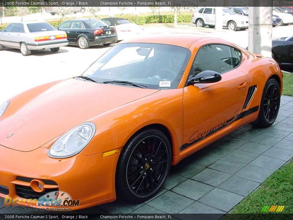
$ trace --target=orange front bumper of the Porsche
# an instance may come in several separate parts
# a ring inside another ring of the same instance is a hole
[[[43,196],[50,190],[59,189],[68,193],[73,200],[80,200],[79,206],[73,207],[73,210],[116,199],[115,170],[119,154],[105,158],[102,158],[102,154],[78,154],[70,158],[55,159],[47,155],[47,148],[20,152],[0,145],[0,150],[0,197],[29,199],[31,194]],[[45,183],[44,188],[47,188],[46,193],[34,192],[30,188],[32,179],[42,180]]]

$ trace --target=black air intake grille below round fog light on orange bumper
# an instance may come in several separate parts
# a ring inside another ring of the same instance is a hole
[[[16,195],[24,199],[38,199],[47,193],[59,191],[58,188],[55,189],[45,189],[42,193],[38,193],[31,189],[30,186],[15,185]]]

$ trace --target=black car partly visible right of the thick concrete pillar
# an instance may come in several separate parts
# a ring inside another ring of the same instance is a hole
[[[293,69],[293,35],[273,39],[272,56],[282,69]]]

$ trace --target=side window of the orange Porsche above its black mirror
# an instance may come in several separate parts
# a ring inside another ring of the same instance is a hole
[[[222,74],[236,67],[241,61],[241,52],[235,48],[220,44],[203,46],[194,60],[192,75],[205,70]]]

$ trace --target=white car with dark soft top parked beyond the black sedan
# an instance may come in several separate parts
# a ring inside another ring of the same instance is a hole
[[[108,17],[102,18],[101,21],[106,23],[109,26],[115,26],[118,41],[130,39],[135,37],[137,34],[141,34],[143,32],[143,28],[137,24],[131,23],[129,20],[125,18],[118,17]]]

